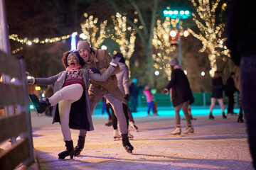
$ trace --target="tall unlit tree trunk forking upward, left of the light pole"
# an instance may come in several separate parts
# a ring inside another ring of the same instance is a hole
[[[127,23],[129,23],[137,32],[138,38],[142,42],[144,54],[146,56],[146,68],[144,70],[145,77],[140,78],[151,87],[155,86],[154,67],[152,60],[152,39],[154,27],[156,26],[156,13],[159,11],[158,0],[154,1],[107,1],[114,11],[121,13],[122,16],[127,16]],[[132,12],[131,12],[132,11]],[[127,15],[129,13],[129,15]],[[147,15],[145,15],[147,13]],[[149,16],[150,13],[150,17]],[[133,18],[137,15],[138,18]],[[129,16],[129,17],[128,17]],[[137,23],[139,25],[137,26]]]

